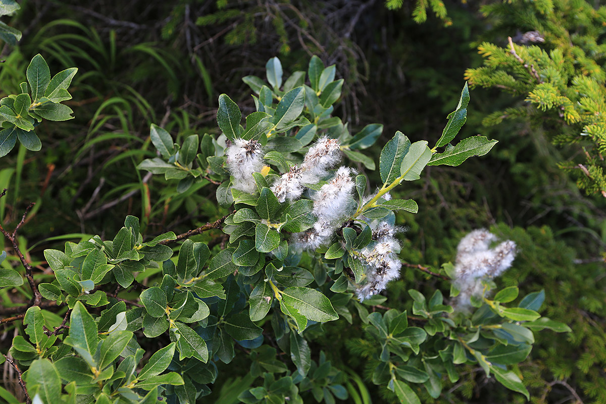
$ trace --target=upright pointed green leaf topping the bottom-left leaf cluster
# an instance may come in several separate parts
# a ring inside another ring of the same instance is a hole
[[[73,346],[89,366],[95,366],[93,355],[97,351],[98,341],[97,323],[93,320],[93,316],[88,314],[84,305],[76,302],[70,315],[70,334],[65,339],[65,343]]]

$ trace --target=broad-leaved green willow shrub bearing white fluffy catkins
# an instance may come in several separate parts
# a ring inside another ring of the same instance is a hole
[[[41,61],[36,56],[32,66]],[[391,199],[390,190],[419,179],[427,165],[458,166],[496,144],[484,136],[451,144],[466,119],[467,85],[433,148],[401,132],[385,144],[378,165],[383,183],[373,191],[363,174],[338,166],[345,156],[374,170],[363,151],[379,138],[382,125],[352,136],[347,124],[331,116],[343,85],[335,76],[334,66],[313,57],[307,72],[284,80],[279,59],[272,58],[267,82],[243,79],[256,93],[256,111],[244,127],[241,110],[225,94],[219,97],[218,137],[194,134],[175,144],[167,131],[151,126],[158,157],[138,168],[178,179],[176,192],[196,182],[218,185],[217,203],[231,213],[214,224],[148,237],[139,233],[139,220],[127,216],[113,238],[45,250],[54,279],[38,284],[35,268],[19,251],[18,229],[3,229],[23,268],[5,261],[0,287],[18,287],[32,297],[13,310],[24,315],[5,319],[24,325],[10,348],[14,360],[6,359],[22,374],[28,401],[152,403],[165,397],[191,403],[210,394],[216,363],[230,363],[236,354],[248,360],[255,380],[241,402],[344,400],[344,373],[324,353],[312,352],[307,337],[325,322],[351,323],[353,317],[376,346],[373,382],[401,402],[419,403],[415,391],[421,386],[439,397],[442,377],[458,380],[457,365],[465,363],[477,363],[528,398],[511,365],[528,356],[534,331],[568,330],[538,313],[544,292],[518,299],[518,288],[510,286],[489,298],[494,283],[476,279],[482,294],[471,298],[471,310],[454,311],[439,290],[431,296],[410,290],[412,313],[384,305],[381,312],[368,311],[385,301],[380,293],[402,268],[395,214],[418,210],[411,199]],[[49,93],[53,80],[36,81],[28,70],[37,94]],[[66,93],[68,84],[63,82]],[[2,99],[2,108],[10,109],[1,118],[5,130],[16,125],[7,117],[32,122],[28,117],[41,116],[35,96],[19,111],[10,105],[25,98],[27,86],[22,88],[23,94]],[[189,239],[211,228],[222,228],[225,236],[210,247]],[[436,273],[425,270],[442,278],[456,274],[450,263]],[[135,280],[143,273],[149,275]],[[21,286],[24,277],[30,290]],[[141,290],[138,299],[119,296],[133,288]],[[454,282],[450,294],[458,293]],[[64,319],[52,314],[62,306],[68,308]],[[422,326],[409,325],[409,319]],[[165,335],[170,343],[150,348],[149,339]]]

